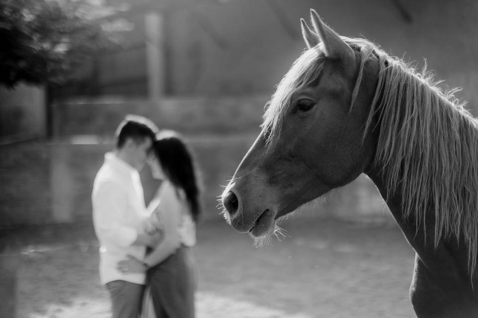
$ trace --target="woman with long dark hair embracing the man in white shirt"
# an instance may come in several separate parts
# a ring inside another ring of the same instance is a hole
[[[157,208],[145,221],[143,231],[160,228],[163,238],[144,262],[130,257],[118,265],[128,271],[148,269],[143,318],[193,318],[196,262],[191,247],[196,244],[200,214],[195,163],[185,143],[171,131],[158,134],[153,150],[151,171],[163,182],[150,204]]]

